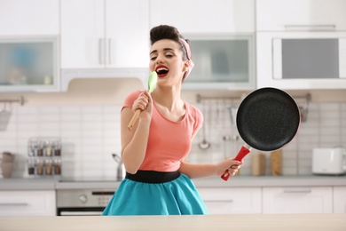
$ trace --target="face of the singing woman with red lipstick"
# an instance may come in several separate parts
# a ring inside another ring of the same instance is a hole
[[[183,60],[180,44],[169,39],[162,39],[152,45],[150,51],[150,71],[156,71],[158,83],[174,84],[182,82],[188,63]]]

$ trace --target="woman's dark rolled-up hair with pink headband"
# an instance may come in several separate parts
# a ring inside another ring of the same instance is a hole
[[[150,43],[153,45],[161,39],[170,39],[180,44],[180,50],[183,52],[183,60],[187,60],[187,53],[184,44],[182,44],[179,38],[185,39],[184,36],[180,35],[177,28],[169,25],[160,25],[150,30]],[[189,44],[189,40],[185,39],[186,43]]]

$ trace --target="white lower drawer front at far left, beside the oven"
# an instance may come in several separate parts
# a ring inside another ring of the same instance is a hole
[[[54,190],[0,191],[0,216],[55,216]]]

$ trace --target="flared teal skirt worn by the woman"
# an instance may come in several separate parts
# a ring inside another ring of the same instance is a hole
[[[115,215],[201,215],[207,207],[193,181],[180,174],[165,183],[143,183],[123,179],[103,216]]]

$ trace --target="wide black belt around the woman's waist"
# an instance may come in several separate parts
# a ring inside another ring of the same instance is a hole
[[[165,183],[173,179],[177,179],[180,176],[179,171],[145,171],[138,170],[136,174],[130,174],[126,172],[126,179],[131,179],[134,181],[142,183]]]

